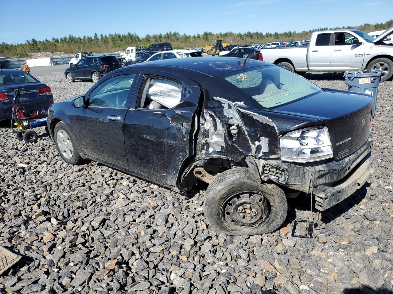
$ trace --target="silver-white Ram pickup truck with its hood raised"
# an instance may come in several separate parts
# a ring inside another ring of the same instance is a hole
[[[311,34],[308,47],[283,47],[261,50],[263,61],[290,71],[345,72],[361,69],[381,73],[382,81],[393,75],[393,44],[384,43],[393,26],[373,38],[354,29],[319,31]]]

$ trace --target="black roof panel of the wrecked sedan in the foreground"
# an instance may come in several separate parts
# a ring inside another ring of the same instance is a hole
[[[250,69],[253,67],[261,67],[266,65],[272,65],[268,62],[263,62],[259,60],[248,59],[244,67],[239,65],[237,62],[240,60],[244,60],[243,58],[236,57],[199,57],[199,58],[172,58],[165,60],[157,60],[157,61],[149,61],[143,62],[139,64],[133,64],[130,67],[122,67],[122,69],[137,69],[137,68],[146,68],[152,69],[152,67],[156,67],[156,69],[165,68],[167,70],[168,67],[172,69],[189,69],[192,71],[197,71],[199,73],[207,74],[209,76],[220,76],[222,74],[231,73],[234,71],[240,71],[242,69]]]

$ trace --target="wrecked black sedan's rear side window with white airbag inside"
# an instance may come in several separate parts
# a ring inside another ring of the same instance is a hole
[[[182,84],[166,78],[146,78],[141,87],[139,107],[169,109],[180,103]]]

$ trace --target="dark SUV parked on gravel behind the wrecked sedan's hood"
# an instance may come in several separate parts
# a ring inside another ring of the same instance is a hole
[[[112,55],[94,55],[81,58],[76,64],[64,71],[68,82],[75,80],[93,80],[97,82],[102,76],[121,67],[121,62]]]

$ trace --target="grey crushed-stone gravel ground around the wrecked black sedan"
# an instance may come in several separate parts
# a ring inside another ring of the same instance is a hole
[[[345,89],[341,73],[305,77]],[[55,101],[92,85],[63,74],[38,78]],[[309,216],[307,198],[289,201],[274,234],[230,237],[207,224],[203,190],[181,195],[97,162],[68,165],[43,129],[26,145],[3,123],[0,243],[23,257],[0,276],[0,292],[391,293],[392,88],[379,87],[375,173],[347,200],[312,212],[312,239],[288,232]]]

